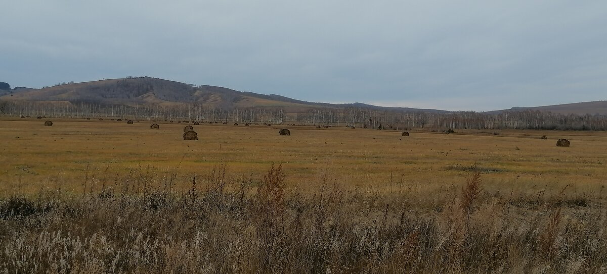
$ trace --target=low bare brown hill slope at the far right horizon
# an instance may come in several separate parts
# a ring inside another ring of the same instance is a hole
[[[575,114],[575,115],[607,115],[607,101],[594,101],[594,102],[578,102],[572,104],[562,105],[544,105],[542,107],[513,107],[509,109],[512,111],[523,111],[523,110],[540,110],[541,112],[552,112],[560,114]],[[495,110],[487,113],[501,113],[506,110]]]

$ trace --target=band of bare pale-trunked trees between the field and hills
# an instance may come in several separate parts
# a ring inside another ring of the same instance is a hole
[[[279,107],[223,109],[205,104],[166,106],[100,105],[81,102],[0,101],[0,115],[47,116],[55,118],[129,118],[154,121],[230,121],[268,122],[271,124],[344,125],[369,129],[543,129],[607,130],[606,115],[563,115],[538,110],[504,111],[498,114],[479,112],[399,112],[356,107],[313,108],[289,113]]]

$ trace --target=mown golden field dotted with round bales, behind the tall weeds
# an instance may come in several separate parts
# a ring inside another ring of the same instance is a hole
[[[192,125],[198,141],[183,141],[188,124],[126,124],[105,119],[0,121],[0,192],[35,193],[60,185],[79,193],[85,178],[129,170],[157,175],[206,174],[226,164],[231,175],[260,176],[282,163],[289,186],[317,181],[321,170],[348,186],[377,192],[460,185],[476,164],[487,190],[503,193],[598,193],[607,181],[607,133],[537,130],[464,130],[450,135],[412,130],[314,126]],[[282,128],[290,136],[279,136]],[[497,135],[496,135],[497,134]],[[541,136],[548,140],[541,140]],[[567,138],[571,147],[557,147]],[[189,186],[185,186],[189,187]]]

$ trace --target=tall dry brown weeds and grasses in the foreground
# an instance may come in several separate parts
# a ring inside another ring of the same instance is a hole
[[[287,188],[257,179],[135,170],[0,201],[0,273],[604,273],[601,195],[484,190],[478,170],[427,204],[324,170]],[[183,181],[180,181],[183,180]],[[464,183],[465,182],[465,183]],[[189,184],[189,190],[175,187]],[[426,193],[426,195],[429,193]]]

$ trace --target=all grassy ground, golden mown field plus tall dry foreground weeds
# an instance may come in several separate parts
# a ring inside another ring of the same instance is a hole
[[[0,121],[0,269],[607,269],[604,132],[151,124]]]

